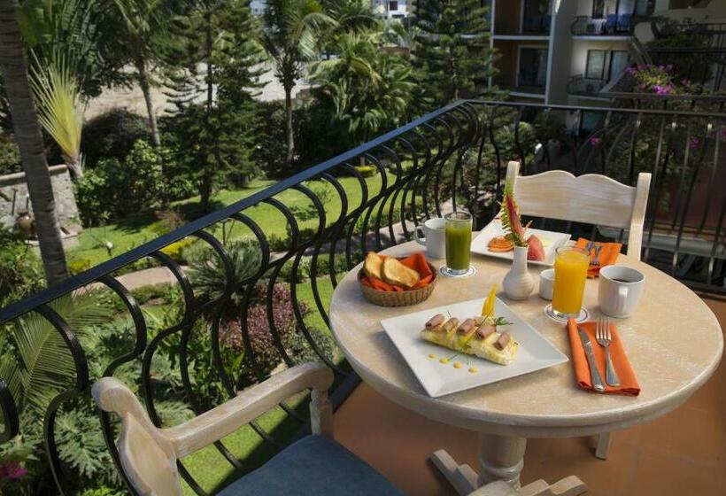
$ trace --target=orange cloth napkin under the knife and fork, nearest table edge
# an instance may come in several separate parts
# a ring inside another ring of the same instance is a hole
[[[605,392],[612,394],[623,394],[625,396],[637,396],[640,394],[640,385],[637,384],[637,378],[633,368],[630,366],[628,357],[625,354],[625,349],[622,347],[622,341],[620,335],[615,327],[614,323],[610,323],[610,333],[613,337],[610,342],[610,357],[613,359],[613,366],[615,372],[618,374],[620,379],[620,385],[613,387],[607,385],[605,382],[605,349],[598,345],[595,340],[595,328],[596,322],[583,322],[578,324],[574,319],[568,321],[568,335],[569,344],[572,348],[572,365],[575,368],[575,378],[577,379],[577,385],[585,391],[595,391],[592,389],[592,381],[590,376],[590,367],[587,364],[587,358],[585,357],[585,351],[583,349],[583,342],[580,340],[580,335],[577,332],[577,327],[582,328],[592,341],[592,354],[595,357],[595,363],[598,365],[598,371],[602,377],[603,384],[605,385]]]

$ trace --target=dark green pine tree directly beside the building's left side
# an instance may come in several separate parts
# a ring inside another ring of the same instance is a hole
[[[414,0],[414,9],[417,110],[482,97],[493,74],[488,8],[480,0]]]

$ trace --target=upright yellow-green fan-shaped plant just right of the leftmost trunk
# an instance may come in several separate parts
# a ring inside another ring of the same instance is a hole
[[[83,110],[79,84],[64,55],[58,54],[46,63],[47,66],[35,59],[34,77],[30,80],[38,99],[38,120],[58,144],[68,169],[77,179],[83,174]]]

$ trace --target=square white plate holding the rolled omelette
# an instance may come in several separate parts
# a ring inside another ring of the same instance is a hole
[[[434,315],[451,314],[463,321],[481,314],[482,305],[483,298],[476,298],[381,321],[386,334],[403,355],[429,396],[443,396],[496,383],[568,361],[567,356],[560,353],[560,350],[539,334],[537,329],[522,321],[499,298],[494,306],[494,314],[514,322],[499,329],[506,329],[520,344],[514,363],[498,365],[474,355],[457,354],[453,350],[434,345],[421,338],[421,329]],[[430,358],[429,354],[435,354],[436,358]],[[441,358],[450,360],[443,364],[439,361]],[[461,368],[454,368],[455,362],[459,362]],[[469,372],[469,368],[475,368],[476,372]]]

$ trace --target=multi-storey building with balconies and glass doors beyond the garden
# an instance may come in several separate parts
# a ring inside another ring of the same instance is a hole
[[[726,21],[726,0],[484,0],[501,57],[490,85],[517,100],[606,105],[602,89],[629,66],[653,16]]]

